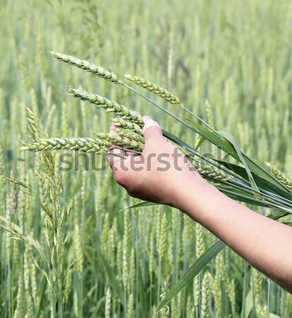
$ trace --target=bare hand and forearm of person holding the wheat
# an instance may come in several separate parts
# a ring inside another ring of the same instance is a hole
[[[128,158],[108,157],[116,182],[130,196],[168,204],[183,211],[292,293],[292,228],[221,194],[202,179],[182,154],[176,156],[178,162],[175,162],[172,154],[177,153],[177,148],[164,139],[157,122],[147,116],[143,119],[145,148],[142,155],[115,149],[114,152]],[[159,154],[169,154],[169,169],[165,170],[162,160],[157,160]],[[140,167],[140,171],[135,167]]]

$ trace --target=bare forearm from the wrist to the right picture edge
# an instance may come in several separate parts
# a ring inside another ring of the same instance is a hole
[[[205,181],[201,185],[198,189],[197,181],[189,180],[176,206],[292,292],[292,228],[238,204]]]

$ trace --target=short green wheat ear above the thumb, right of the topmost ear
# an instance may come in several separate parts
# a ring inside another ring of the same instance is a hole
[[[181,101],[178,99],[176,95],[169,92],[169,90],[166,90],[166,88],[162,88],[150,81],[145,80],[144,78],[141,78],[139,76],[125,74],[124,77],[126,77],[129,81],[137,84],[138,86],[141,86],[142,88],[146,88],[147,90],[150,90],[150,92],[160,96],[167,102],[170,102],[173,105],[178,105],[181,108],[185,108]]]

